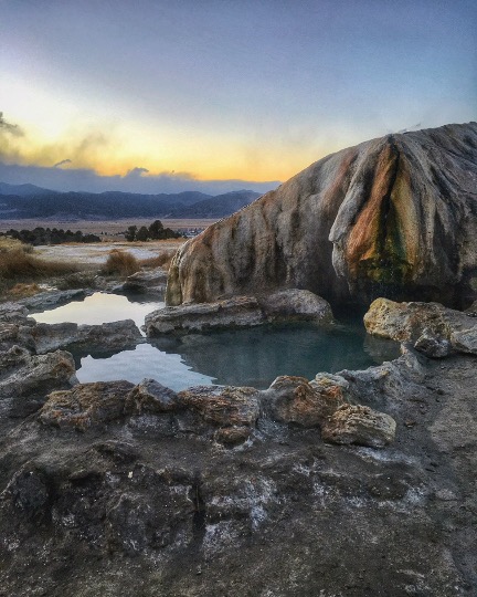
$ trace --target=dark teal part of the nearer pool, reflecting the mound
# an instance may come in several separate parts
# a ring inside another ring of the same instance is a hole
[[[187,365],[216,377],[219,384],[264,388],[279,375],[310,379],[320,370],[337,371],[349,363],[365,368],[399,354],[389,342],[371,342],[372,349],[364,344],[363,350],[364,338],[353,326],[295,324],[156,338],[153,346],[179,353]]]

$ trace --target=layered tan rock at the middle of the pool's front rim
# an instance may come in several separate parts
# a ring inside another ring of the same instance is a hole
[[[257,397],[255,388],[232,386],[197,386],[178,394],[183,407],[193,409],[204,422],[220,427],[254,427]]]

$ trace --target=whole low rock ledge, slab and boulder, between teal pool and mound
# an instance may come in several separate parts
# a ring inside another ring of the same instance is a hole
[[[220,327],[250,327],[276,321],[332,322],[329,304],[310,291],[289,289],[259,296],[234,296],[214,303],[169,306],[149,313],[147,336],[200,332]]]

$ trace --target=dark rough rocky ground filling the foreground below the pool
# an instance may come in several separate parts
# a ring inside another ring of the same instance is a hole
[[[264,391],[53,391],[4,419],[0,591],[473,597],[474,371],[405,350]]]

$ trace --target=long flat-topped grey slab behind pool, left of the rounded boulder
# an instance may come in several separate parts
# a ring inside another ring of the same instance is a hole
[[[220,327],[258,325],[265,321],[257,300],[236,296],[216,303],[166,307],[146,315],[146,335],[157,336],[171,332],[201,332]]]

